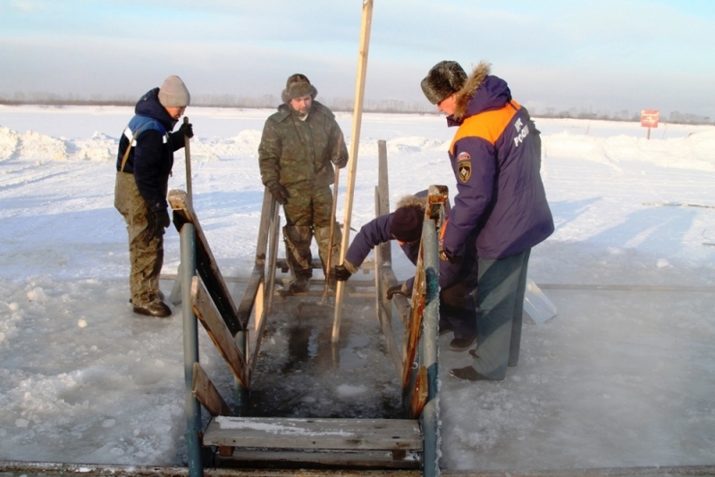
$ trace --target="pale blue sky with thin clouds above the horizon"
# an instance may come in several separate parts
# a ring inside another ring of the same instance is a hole
[[[301,72],[352,98],[361,16],[359,0],[0,0],[0,96],[138,98],[178,74],[195,97],[279,97]],[[366,100],[425,102],[433,64],[484,60],[536,113],[712,120],[712,31],[709,0],[375,0]]]

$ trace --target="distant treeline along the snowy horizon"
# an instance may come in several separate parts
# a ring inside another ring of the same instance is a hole
[[[349,97],[320,98],[332,111],[352,112],[354,102]],[[53,93],[15,93],[6,95],[0,93],[0,105],[48,105],[48,106],[71,106],[71,105],[107,105],[107,106],[133,106],[137,98],[133,96],[112,96],[101,95],[80,96],[75,94],[55,95]],[[192,96],[191,105],[203,107],[230,107],[230,108],[274,108],[281,104],[281,99],[273,95],[265,96],[236,96],[236,95],[198,95]],[[363,111],[366,113],[417,113],[436,114],[437,109],[426,101],[403,101],[400,99],[383,99],[380,101],[366,100],[363,104]],[[629,112],[626,109],[616,113],[609,111],[593,112],[585,108],[569,108],[558,111],[556,108],[546,107],[542,109],[530,108],[529,113],[539,118],[562,118],[562,119],[590,119],[600,121],[641,121],[640,111]],[[666,117],[660,115],[660,121],[675,124],[715,124],[715,120],[709,116],[701,116],[692,113],[680,113],[671,111]]]

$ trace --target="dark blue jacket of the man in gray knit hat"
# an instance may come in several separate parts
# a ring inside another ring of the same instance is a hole
[[[154,88],[141,96],[134,108],[136,116],[119,140],[117,153],[117,171],[134,174],[139,194],[153,212],[168,207],[166,189],[172,173],[173,153],[184,146],[181,132],[169,132],[176,121],[159,103],[158,94],[159,88]],[[134,146],[122,170],[122,158],[131,138],[134,138]]]

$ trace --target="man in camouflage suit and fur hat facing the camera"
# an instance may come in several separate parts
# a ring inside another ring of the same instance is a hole
[[[348,163],[348,149],[334,114],[315,101],[317,89],[305,75],[293,74],[282,91],[283,104],[266,121],[258,146],[261,180],[283,206],[283,238],[292,280],[291,293],[306,292],[313,276],[310,244],[315,235],[325,276],[327,258],[339,262],[341,231],[330,240],[335,167]]]

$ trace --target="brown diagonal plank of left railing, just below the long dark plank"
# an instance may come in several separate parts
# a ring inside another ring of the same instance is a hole
[[[208,336],[214,341],[214,345],[231,368],[233,375],[240,381],[241,386],[248,389],[250,372],[246,360],[241,355],[231,331],[221,319],[221,315],[199,277],[194,277],[191,281],[191,305],[198,320],[204,325]]]

